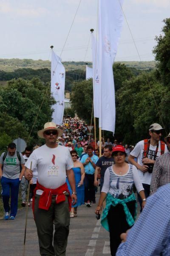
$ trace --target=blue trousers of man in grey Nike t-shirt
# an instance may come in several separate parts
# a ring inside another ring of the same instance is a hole
[[[18,209],[18,193],[20,186],[20,179],[9,179],[6,177],[1,178],[2,185],[2,198],[3,198],[3,207],[5,212],[10,211],[9,206],[9,197],[10,197],[10,189],[11,189],[11,212],[10,216],[16,216]]]

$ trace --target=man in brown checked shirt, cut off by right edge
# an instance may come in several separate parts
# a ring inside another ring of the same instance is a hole
[[[150,195],[165,184],[170,183],[170,133],[164,138],[169,151],[156,159],[150,183]]]

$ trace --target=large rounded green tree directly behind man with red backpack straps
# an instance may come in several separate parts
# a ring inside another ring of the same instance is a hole
[[[150,87],[144,74],[125,81],[116,93],[116,138],[122,138],[125,143],[136,143],[148,137],[148,127],[157,122],[162,125],[159,112],[163,116],[167,110],[164,99],[167,88],[156,81],[155,73],[147,75]],[[156,100],[154,102],[153,96]],[[157,105],[157,107],[156,107]],[[165,127],[168,121],[164,120]]]

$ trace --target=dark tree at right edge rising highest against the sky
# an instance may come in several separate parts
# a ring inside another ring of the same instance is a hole
[[[164,23],[163,35],[156,36],[157,45],[153,53],[163,84],[170,88],[170,18],[164,19]]]

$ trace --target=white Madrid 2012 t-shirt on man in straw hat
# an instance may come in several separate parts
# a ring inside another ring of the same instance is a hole
[[[67,147],[58,145],[57,148],[49,148],[43,145],[35,149],[25,166],[32,170],[37,167],[38,182],[48,189],[57,189],[66,182],[66,170],[74,167],[70,151]],[[42,195],[42,190],[37,190]]]

